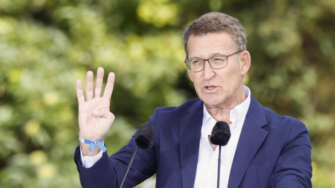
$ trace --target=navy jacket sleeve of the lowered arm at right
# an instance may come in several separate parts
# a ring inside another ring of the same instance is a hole
[[[271,188],[312,188],[311,143],[306,126],[288,120],[290,133],[271,177]]]

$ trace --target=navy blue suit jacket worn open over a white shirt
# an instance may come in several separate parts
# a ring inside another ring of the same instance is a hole
[[[203,120],[203,102],[194,99],[179,107],[157,108],[149,123],[155,141],[139,150],[124,188],[157,174],[156,188],[193,188]],[[135,133],[136,134],[136,133]],[[91,168],[84,168],[79,147],[75,162],[84,188],[119,188],[136,149],[128,145]],[[228,188],[311,188],[311,144],[305,125],[262,107],[251,95],[230,171]]]

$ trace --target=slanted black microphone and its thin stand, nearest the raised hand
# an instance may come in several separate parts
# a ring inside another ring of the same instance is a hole
[[[137,145],[137,148],[130,159],[126,174],[124,176],[124,179],[122,180],[120,188],[122,188],[123,184],[125,183],[126,176],[129,172],[130,166],[135,158],[137,151],[139,149],[148,150],[153,145],[154,138],[155,138],[155,128],[149,123],[142,124],[138,129],[137,135],[135,137],[135,143]]]

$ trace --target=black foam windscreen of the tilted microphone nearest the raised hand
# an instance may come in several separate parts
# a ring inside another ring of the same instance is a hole
[[[148,150],[154,143],[155,128],[149,123],[142,124],[135,137],[135,143],[142,150]]]

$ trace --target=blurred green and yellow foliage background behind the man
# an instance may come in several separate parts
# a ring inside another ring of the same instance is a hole
[[[156,107],[196,98],[181,36],[209,11],[241,20],[245,84],[306,124],[313,186],[334,188],[335,0],[0,0],[0,187],[81,187],[75,82],[89,70],[116,73],[109,154]]]

